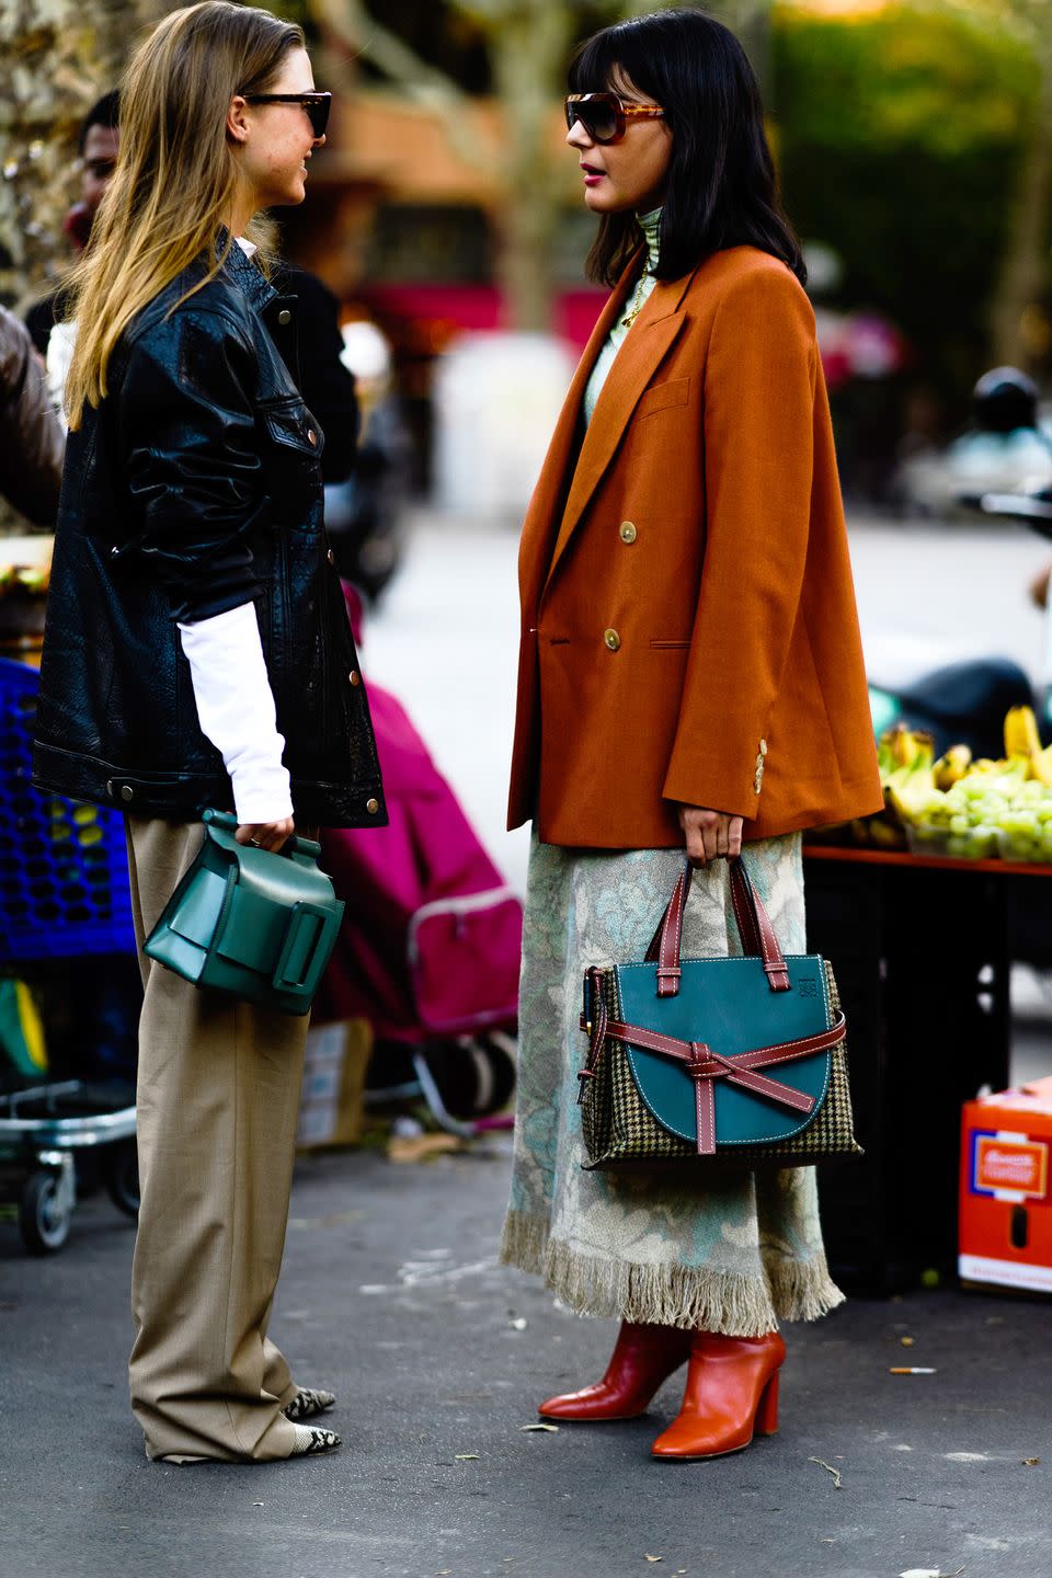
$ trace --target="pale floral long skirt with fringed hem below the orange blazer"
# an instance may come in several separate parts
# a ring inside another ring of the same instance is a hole
[[[787,953],[806,952],[800,835],[746,846]],[[814,1168],[585,1172],[577,1070],[582,977],[642,959],[678,849],[580,851],[533,838],[519,1000],[519,1098],[502,1261],[580,1314],[759,1337],[842,1302],[830,1280]],[[727,866],[696,871],[688,958],[741,953]]]

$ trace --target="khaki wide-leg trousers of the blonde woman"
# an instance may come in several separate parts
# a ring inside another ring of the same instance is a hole
[[[128,817],[144,983],[131,1406],[147,1456],[287,1458],[297,1387],[267,1337],[308,1016],[197,991],[142,953],[200,824]]]

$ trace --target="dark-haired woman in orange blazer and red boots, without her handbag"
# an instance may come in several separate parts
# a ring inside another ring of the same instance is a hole
[[[662,11],[591,38],[569,85],[614,290],[522,535],[509,825],[532,819],[533,846],[503,1259],[621,1321],[602,1379],[546,1417],[629,1419],[689,1363],[653,1452],[707,1458],[776,1428],[779,1322],[841,1302],[814,1171],[582,1171],[582,972],[644,956],[685,849],[685,952],[737,952],[743,839],[803,952],[801,828],[877,810],[880,786],[814,316],[748,60]]]

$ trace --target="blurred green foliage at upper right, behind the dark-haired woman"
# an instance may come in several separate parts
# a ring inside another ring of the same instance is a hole
[[[845,264],[845,305],[886,312],[924,376],[967,390],[1031,131],[1039,73],[989,14],[782,6],[774,110],[789,211]]]

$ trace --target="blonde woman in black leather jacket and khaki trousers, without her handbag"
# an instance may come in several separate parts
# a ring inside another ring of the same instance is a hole
[[[140,46],[117,169],[74,279],[69,445],[36,781],[128,819],[139,944],[200,847],[379,825],[383,795],[322,525],[322,432],[289,376],[295,298],[254,216],[303,200],[325,140],[298,27],[207,0]],[[293,821],[295,819],[295,821]],[[267,1335],[306,1021],[140,955],[142,1210],[132,1409],[150,1458],[326,1452]]]

